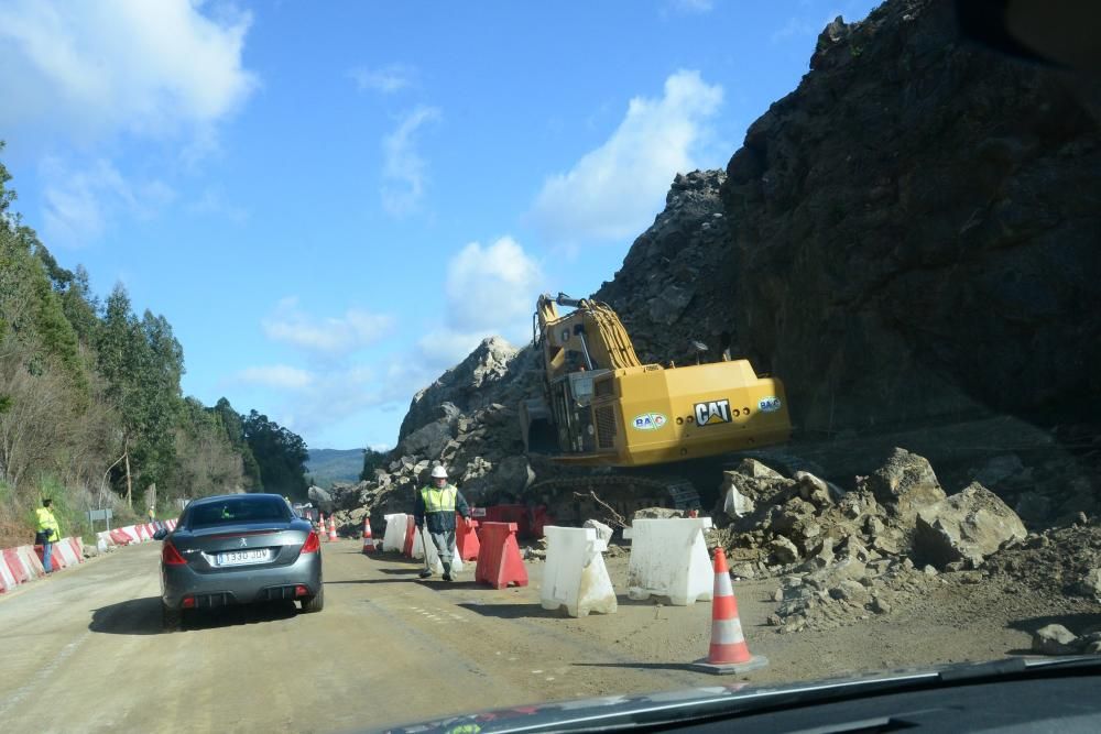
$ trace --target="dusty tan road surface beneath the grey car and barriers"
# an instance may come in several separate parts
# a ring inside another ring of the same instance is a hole
[[[775,582],[750,582],[735,589],[741,618],[771,665],[717,678],[683,668],[707,651],[708,603],[621,595],[617,614],[564,618],[538,604],[539,563],[523,589],[477,585],[469,566],[454,583],[424,583],[416,565],[367,558],[353,540],[324,546],[319,614],[233,609],[162,634],[159,552],[155,543],[120,549],[0,598],[3,731],[358,731],[546,700],[989,659],[1029,640],[1029,625],[999,616],[1004,603],[975,616],[940,613],[936,599],[889,620],[780,635],[763,624]],[[626,558],[608,565],[624,590]]]

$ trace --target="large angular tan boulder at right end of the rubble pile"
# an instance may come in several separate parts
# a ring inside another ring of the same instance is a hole
[[[960,561],[974,568],[1006,543],[1023,540],[1027,534],[1009,505],[973,482],[959,494],[918,512],[914,555],[941,569]]]

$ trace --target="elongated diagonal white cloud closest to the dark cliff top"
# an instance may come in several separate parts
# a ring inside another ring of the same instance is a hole
[[[697,149],[711,135],[707,121],[721,105],[722,88],[698,72],[669,76],[661,99],[632,99],[603,145],[546,180],[531,219],[559,243],[636,235],[661,210],[674,175],[697,167]]]

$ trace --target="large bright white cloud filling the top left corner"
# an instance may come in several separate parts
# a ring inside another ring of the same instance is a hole
[[[226,117],[257,86],[241,62],[251,17],[214,18],[205,8],[195,0],[3,4],[0,127],[161,136]]]

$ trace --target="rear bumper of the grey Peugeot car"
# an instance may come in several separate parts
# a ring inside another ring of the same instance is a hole
[[[198,573],[188,566],[161,565],[161,600],[170,609],[181,609],[185,596],[195,599],[196,609],[302,599],[295,595],[298,585],[306,587],[309,596],[320,591],[319,552],[299,556],[290,566],[242,567],[215,573]]]

